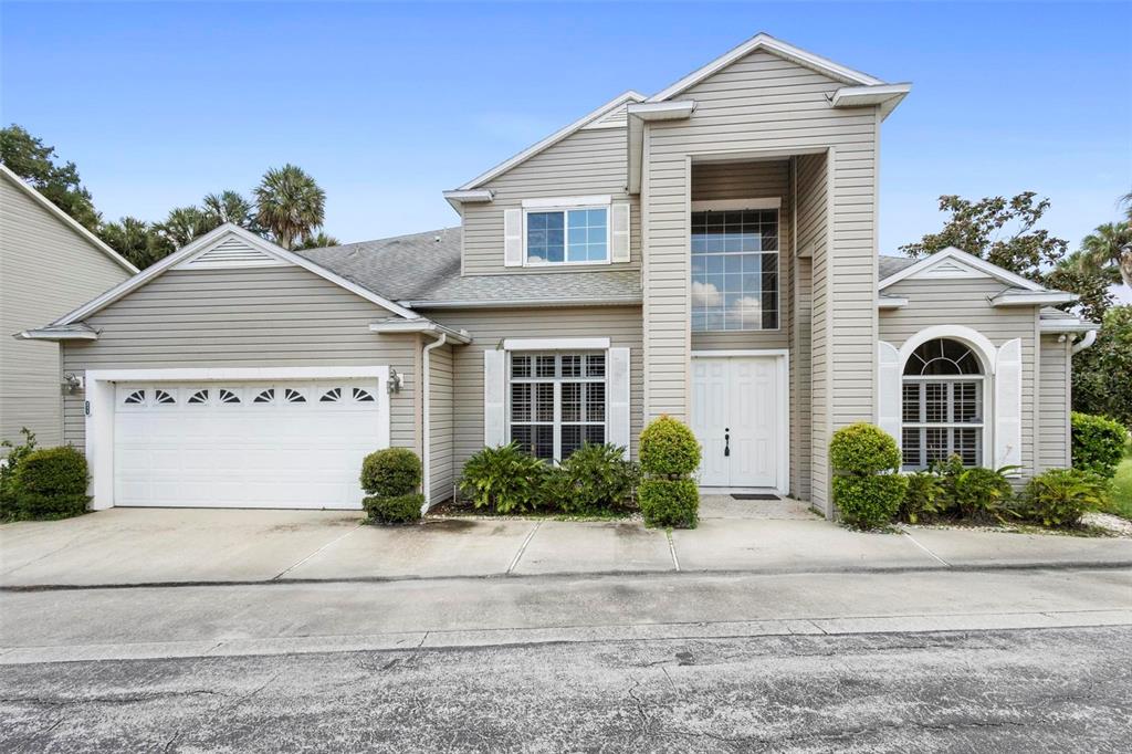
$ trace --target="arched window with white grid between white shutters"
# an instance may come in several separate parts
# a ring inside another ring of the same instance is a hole
[[[959,455],[983,463],[984,375],[978,357],[940,337],[917,348],[903,371],[901,446],[906,470]]]

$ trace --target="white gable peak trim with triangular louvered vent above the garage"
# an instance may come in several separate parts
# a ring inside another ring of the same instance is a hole
[[[194,263],[198,260],[205,262],[199,266],[195,266]],[[60,327],[80,322],[173,268],[200,269],[216,267],[261,267],[265,265],[293,265],[302,267],[397,316],[405,317],[406,319],[420,317],[415,311],[394,303],[306,257],[275,246],[271,241],[238,225],[225,223],[216,230],[205,233],[191,243],[181,247],[180,250],[147,267],[134,277],[115,285],[93,301],[57,319],[51,323],[51,327]]]

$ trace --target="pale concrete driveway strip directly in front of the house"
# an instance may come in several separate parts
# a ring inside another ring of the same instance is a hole
[[[704,500],[700,526],[357,513],[111,508],[0,526],[0,586],[505,575],[1132,566],[1132,540],[909,528],[860,533],[798,503]]]

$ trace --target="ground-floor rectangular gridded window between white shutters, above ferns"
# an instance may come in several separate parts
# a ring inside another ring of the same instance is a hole
[[[513,353],[509,439],[546,461],[606,442],[604,353]]]

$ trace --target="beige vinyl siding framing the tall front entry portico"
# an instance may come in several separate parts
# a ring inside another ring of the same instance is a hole
[[[788,156],[832,149],[832,243],[829,252],[815,254],[813,269],[814,400],[827,401],[831,412],[816,417],[815,411],[815,482],[825,464],[822,453],[827,426],[869,420],[874,413],[878,115],[875,108],[832,108],[829,95],[841,86],[758,51],[680,94],[679,98],[696,102],[691,119],[646,127],[649,417],[669,413],[687,419],[688,412],[689,160],[710,156],[718,161],[726,153],[735,154],[736,160],[749,160],[756,152]],[[818,307],[830,300],[833,308],[826,319]],[[833,363],[835,382],[826,375]],[[824,392],[826,387],[829,393]],[[824,486],[824,479],[815,486],[813,500],[827,508]]]

